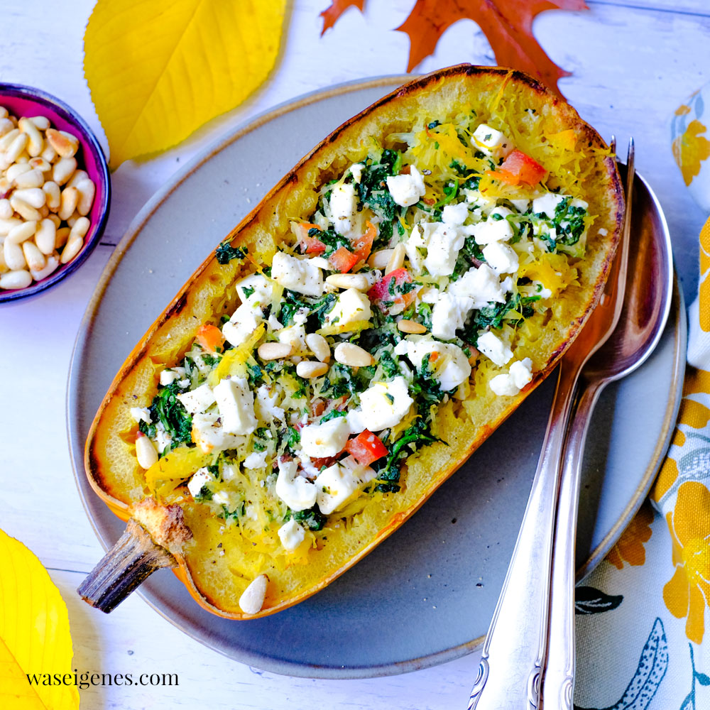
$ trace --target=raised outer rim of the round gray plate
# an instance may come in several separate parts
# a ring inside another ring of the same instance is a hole
[[[182,182],[185,182],[185,180],[187,180],[187,178],[189,178],[190,175],[192,175],[192,173],[197,170],[197,168],[200,168],[202,165],[204,165],[204,163],[207,163],[207,161],[210,160],[214,155],[224,150],[224,148],[229,146],[231,143],[234,143],[234,141],[239,140],[239,138],[241,138],[242,136],[251,133],[252,131],[263,126],[264,124],[273,121],[273,119],[277,119],[283,114],[290,113],[291,111],[300,109],[301,107],[305,107],[308,104],[319,102],[324,99],[329,99],[331,97],[339,96],[342,94],[347,94],[349,92],[355,92],[361,89],[370,89],[376,87],[392,87],[393,89],[395,89],[398,85],[404,84],[405,82],[412,80],[413,78],[415,78],[415,76],[416,75],[386,75],[382,77],[373,77],[368,80],[354,80],[344,82],[342,84],[335,84],[334,86],[328,87],[326,89],[317,89],[313,92],[302,94],[300,97],[295,97],[294,99],[285,101],[281,104],[278,104],[276,107],[273,107],[272,109],[268,109],[267,111],[263,111],[261,114],[253,116],[251,119],[248,119],[244,123],[239,124],[233,130],[229,131],[224,136],[221,136],[213,143],[210,143],[209,146],[204,148],[203,151],[200,151],[200,153],[195,155],[195,157],[192,158],[192,160],[190,160],[188,163],[186,163],[183,168],[178,170],[172,176],[172,178],[170,178],[170,180],[168,180],[168,182],[163,185],[163,187],[160,187],[160,189],[155,192],[153,197],[151,197],[151,199],[148,200],[145,205],[143,205],[140,212],[136,214],[136,217],[131,220],[131,224],[129,224],[128,229],[126,229],[126,233],[124,234],[124,236],[121,237],[119,243],[116,244],[114,251],[111,253],[109,261],[107,262],[106,266],[104,266],[104,270],[102,271],[102,275],[99,278],[99,282],[94,288],[92,297],[89,299],[87,308],[84,312],[84,316],[82,317],[82,321],[77,332],[75,344],[72,348],[70,368],[67,376],[67,443],[69,445],[70,451],[72,474],[74,476],[75,484],[77,486],[77,491],[79,493],[82,506],[84,507],[84,511],[87,514],[87,518],[89,519],[89,523],[92,526],[94,533],[97,536],[97,539],[99,540],[99,544],[103,547],[104,550],[109,549],[110,543],[107,542],[107,540],[104,540],[102,532],[99,531],[97,521],[94,520],[94,515],[92,514],[92,511],[89,508],[89,503],[87,501],[86,496],[87,491],[85,491],[84,487],[82,486],[82,479],[85,476],[83,446],[80,446],[80,451],[78,452],[79,455],[77,456],[71,414],[75,395],[75,388],[77,387],[78,381],[77,355],[79,354],[82,346],[82,338],[90,329],[92,321],[94,320],[94,317],[96,315],[96,310],[99,305],[99,302],[101,302],[109,280],[111,279],[111,276],[113,275],[114,271],[116,271],[116,268],[119,266],[119,263],[121,263],[121,259],[123,258],[124,254],[131,247],[133,241],[136,240],[136,237],[138,236],[146,222],[151,219],[158,207],[160,207],[160,205],[165,202],[165,200],[178,188],[178,186],[181,185]],[[641,179],[643,180],[643,178]],[[645,182],[645,180],[643,180],[643,182],[645,184],[645,187],[650,192],[652,198],[656,200],[655,194],[651,190],[648,183]],[[652,462],[646,469],[643,479],[640,481],[639,486],[636,488],[633,497],[630,499],[628,506],[623,512],[623,515],[621,516],[621,518],[619,518],[617,523],[603,538],[602,542],[589,553],[589,559],[587,559],[584,565],[582,565],[582,567],[577,570],[577,579],[581,579],[581,577],[583,577],[584,575],[589,574],[589,572],[591,572],[592,569],[594,569],[594,567],[596,567],[596,565],[601,562],[601,559],[603,559],[608,550],[610,550],[611,547],[616,543],[616,540],[618,540],[619,535],[621,535],[621,532],[623,532],[623,530],[626,528],[626,525],[628,525],[631,518],[633,518],[633,515],[635,515],[635,512],[638,510],[641,503],[643,502],[646,493],[648,493],[652,481],[655,479],[655,475],[657,474],[657,471],[662,463],[663,455],[665,454],[667,446],[670,443],[670,437],[672,436],[674,423],[676,420],[677,411],[682,396],[682,373],[684,372],[685,364],[684,344],[686,342],[687,337],[686,325],[684,320],[683,295],[682,291],[678,288],[677,278],[675,276],[674,297],[672,299],[671,310],[677,317],[678,326],[676,327],[676,329],[674,329],[674,379],[671,383],[671,396],[665,411],[662,437],[660,437],[660,439],[658,440],[657,446],[655,447]],[[417,657],[401,662],[393,662],[390,664],[333,668],[320,667],[316,665],[302,664],[284,659],[266,659],[266,657],[262,657],[255,653],[241,649],[239,649],[238,652],[234,652],[234,648],[225,648],[215,643],[211,643],[211,640],[209,638],[204,638],[200,635],[197,635],[197,633],[195,633],[192,629],[187,628],[187,626],[185,625],[185,623],[182,622],[181,619],[173,618],[173,616],[170,616],[169,613],[163,611],[163,609],[158,606],[158,603],[151,599],[150,593],[138,589],[136,591],[136,594],[138,594],[138,596],[141,596],[141,598],[146,601],[148,606],[151,606],[151,608],[153,608],[160,616],[165,618],[166,621],[173,624],[173,626],[180,629],[182,633],[185,633],[190,638],[193,638],[199,643],[202,643],[202,645],[207,646],[207,648],[217,651],[220,654],[231,658],[232,660],[244,662],[248,665],[254,665],[268,672],[291,675],[295,677],[320,679],[364,679],[373,677],[384,677],[405,672],[413,672],[415,670],[422,670],[427,667],[432,667],[444,662],[456,660],[461,656],[474,652],[481,646],[485,638],[484,636],[480,636],[479,638],[474,638],[466,643],[453,646],[452,648],[433,652],[422,657]]]

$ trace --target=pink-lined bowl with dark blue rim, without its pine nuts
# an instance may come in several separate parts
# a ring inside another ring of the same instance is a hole
[[[21,86],[20,84],[0,83],[0,106],[11,114],[21,116],[46,116],[53,128],[67,131],[79,138],[80,148],[77,151],[77,168],[86,170],[96,186],[96,195],[91,212],[87,214],[91,226],[84,237],[82,250],[69,263],[62,264],[53,273],[41,281],[31,283],[27,288],[16,290],[0,290],[0,303],[33,296],[50,288],[70,273],[74,273],[89,254],[99,244],[109,217],[111,202],[111,180],[109,167],[104,152],[99,146],[96,136],[87,126],[86,121],[74,109],[64,102],[40,89]]]

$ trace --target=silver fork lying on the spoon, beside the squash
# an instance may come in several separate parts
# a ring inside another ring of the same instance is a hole
[[[616,152],[616,141],[612,142]],[[633,141],[630,152],[633,160]],[[629,219],[630,208],[627,207],[623,236],[609,275],[611,286],[605,292],[606,297],[559,364],[559,378],[540,460],[513,558],[484,642],[469,710],[532,710],[540,701],[540,675],[550,632],[552,543],[564,440],[579,373],[611,334],[621,312]]]

